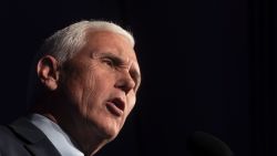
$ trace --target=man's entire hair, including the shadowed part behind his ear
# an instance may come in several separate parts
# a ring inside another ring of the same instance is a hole
[[[40,51],[34,58],[28,85],[28,105],[32,104],[34,102],[35,95],[39,95],[41,92],[38,75],[34,73],[38,60],[41,56],[49,54],[54,56],[59,62],[59,65],[62,66],[64,62],[70,60],[86,44],[88,33],[98,31],[107,31],[122,34],[131,42],[132,46],[134,48],[135,41],[132,33],[109,21],[80,21],[57,31],[44,41]]]

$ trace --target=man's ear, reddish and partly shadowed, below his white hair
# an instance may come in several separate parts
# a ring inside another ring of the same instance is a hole
[[[54,91],[58,87],[59,64],[53,56],[45,55],[39,60],[37,74],[47,89]]]

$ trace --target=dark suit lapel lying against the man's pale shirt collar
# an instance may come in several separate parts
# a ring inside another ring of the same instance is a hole
[[[19,118],[9,126],[22,139],[27,150],[34,156],[61,156],[47,136],[25,117]]]

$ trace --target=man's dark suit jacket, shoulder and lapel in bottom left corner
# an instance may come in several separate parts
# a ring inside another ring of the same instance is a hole
[[[0,126],[0,156],[61,156],[47,136],[22,117]]]

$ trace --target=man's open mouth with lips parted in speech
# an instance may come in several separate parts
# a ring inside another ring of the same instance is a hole
[[[125,103],[121,98],[113,98],[106,102],[107,110],[115,116],[122,116],[125,108]]]

